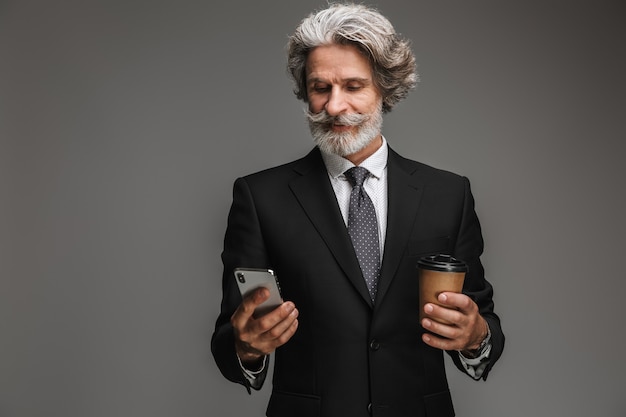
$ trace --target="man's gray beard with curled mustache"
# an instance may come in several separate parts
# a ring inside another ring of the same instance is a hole
[[[342,157],[355,154],[364,149],[382,131],[382,105],[371,114],[351,113],[329,116],[326,110],[319,113],[306,112],[313,142],[322,152]],[[333,123],[358,126],[353,132],[333,132]]]

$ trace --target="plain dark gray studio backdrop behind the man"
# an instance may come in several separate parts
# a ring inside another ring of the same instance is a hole
[[[624,416],[624,2],[377,5],[422,79],[384,133],[472,180],[508,337],[458,415]],[[1,416],[264,414],[209,353],[219,254],[234,179],[311,147],[320,6],[0,2]]]

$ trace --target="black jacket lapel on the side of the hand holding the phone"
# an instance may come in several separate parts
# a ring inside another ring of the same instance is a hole
[[[371,305],[367,286],[319,150],[312,150],[294,169],[300,176],[289,183],[292,192],[345,275]]]

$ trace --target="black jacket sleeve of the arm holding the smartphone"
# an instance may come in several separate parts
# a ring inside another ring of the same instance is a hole
[[[233,328],[230,324],[230,317],[242,300],[233,277],[233,270],[237,267],[267,268],[268,260],[253,195],[243,178],[235,181],[233,189],[233,203],[228,215],[222,263],[224,265],[222,303],[211,338],[211,352],[224,377],[242,384],[250,393],[251,385],[239,365]],[[265,373],[258,376],[261,382],[265,379],[267,368],[266,366]],[[256,389],[260,388],[258,386]]]

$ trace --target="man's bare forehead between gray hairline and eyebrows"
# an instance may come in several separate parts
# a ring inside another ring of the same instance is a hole
[[[372,68],[353,45],[323,45],[309,52],[306,61],[307,81],[371,80]]]

